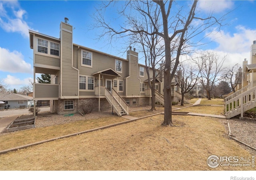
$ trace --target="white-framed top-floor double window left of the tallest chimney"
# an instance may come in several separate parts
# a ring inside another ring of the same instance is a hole
[[[50,51],[48,51],[50,47]],[[44,54],[50,54],[54,56],[60,56],[60,44],[57,42],[51,42],[49,40],[37,39],[37,52]]]

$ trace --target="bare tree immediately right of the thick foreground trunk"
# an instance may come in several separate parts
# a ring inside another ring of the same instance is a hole
[[[177,71],[175,78],[182,94],[180,105],[184,106],[184,96],[197,84],[200,78],[200,70],[192,62],[182,62],[179,65],[179,70]]]

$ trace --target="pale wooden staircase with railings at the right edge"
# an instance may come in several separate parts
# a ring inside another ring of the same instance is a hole
[[[232,118],[256,107],[256,86],[248,85],[224,99],[226,118]]]

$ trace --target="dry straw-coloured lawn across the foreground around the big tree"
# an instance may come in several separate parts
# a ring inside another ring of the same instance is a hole
[[[173,116],[173,127],[160,126],[162,120],[156,115],[2,154],[0,170],[254,170],[208,167],[210,155],[252,156],[218,119]]]

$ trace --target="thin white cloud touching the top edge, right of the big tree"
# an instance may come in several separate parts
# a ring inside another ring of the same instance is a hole
[[[226,9],[231,9],[234,2],[230,0],[200,0],[198,1],[198,8],[204,12],[222,12]]]

